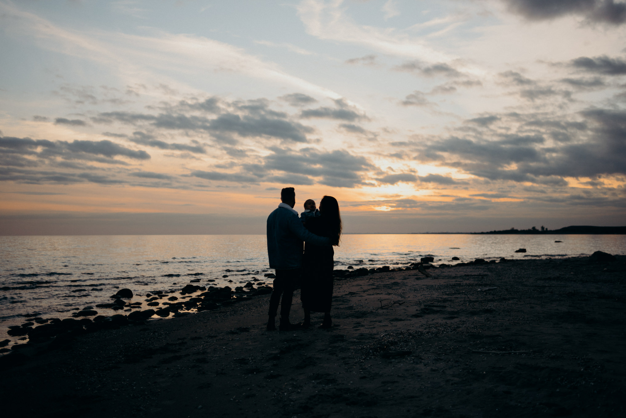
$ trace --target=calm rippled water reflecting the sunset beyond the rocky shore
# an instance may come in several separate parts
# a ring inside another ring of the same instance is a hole
[[[528,252],[515,253],[518,248]],[[596,250],[626,254],[626,235],[344,235],[335,260],[336,268],[371,268],[407,265],[424,255],[437,265],[451,257],[562,258]],[[264,282],[270,272],[265,235],[4,236],[0,260],[0,324],[6,327],[34,312],[69,317],[74,308],[110,302],[118,288],[141,295],[135,302],[195,278],[234,288],[254,277]]]

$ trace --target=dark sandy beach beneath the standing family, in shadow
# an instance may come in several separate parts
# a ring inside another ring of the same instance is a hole
[[[269,295],[2,357],[29,417],[622,417],[626,258],[337,280],[331,330],[267,332]],[[292,322],[302,319],[299,293]],[[321,314],[314,317],[321,322]]]

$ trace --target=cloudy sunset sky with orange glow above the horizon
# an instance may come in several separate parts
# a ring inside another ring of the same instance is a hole
[[[0,0],[0,234],[626,225],[626,3]]]

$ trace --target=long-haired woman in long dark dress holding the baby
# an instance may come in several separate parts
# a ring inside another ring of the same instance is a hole
[[[300,300],[304,308],[302,327],[310,327],[310,313],[324,312],[320,328],[332,327],[332,268],[334,267],[333,245],[339,246],[341,237],[341,215],[339,203],[332,196],[324,196],[319,204],[321,217],[309,218],[305,227],[315,235],[331,238],[332,245],[305,243],[302,262],[302,290]]]

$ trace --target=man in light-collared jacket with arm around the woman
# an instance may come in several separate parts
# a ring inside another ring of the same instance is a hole
[[[282,295],[280,304],[281,331],[289,331],[292,325],[289,323],[289,311],[294,297],[295,283],[300,277],[302,268],[303,241],[315,245],[330,245],[330,238],[318,237],[307,231],[302,225],[298,213],[294,210],[295,190],[293,187],[285,187],[280,191],[282,203],[274,212],[267,217],[267,255],[270,260],[270,268],[276,270],[274,290],[270,297],[269,320],[267,330],[276,329],[274,319]]]

